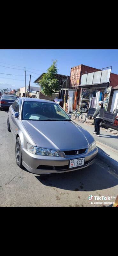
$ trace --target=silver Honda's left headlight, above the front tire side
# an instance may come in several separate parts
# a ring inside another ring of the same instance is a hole
[[[27,150],[30,153],[33,153],[36,155],[59,156],[55,150],[42,148],[42,147],[34,147],[29,143],[27,143]]]

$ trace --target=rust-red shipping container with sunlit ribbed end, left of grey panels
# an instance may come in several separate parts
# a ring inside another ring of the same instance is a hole
[[[96,68],[88,67],[83,64],[71,68],[70,72],[70,87],[78,86],[81,83],[81,74],[85,72],[98,70]]]

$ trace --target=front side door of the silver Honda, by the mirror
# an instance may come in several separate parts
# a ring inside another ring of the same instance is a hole
[[[13,115],[12,115],[12,128],[13,128],[13,136],[14,136],[14,139],[16,139],[16,134],[17,134],[17,131],[18,131],[18,129],[19,129],[19,117],[17,118],[17,117],[15,117],[14,116],[14,114],[15,114],[15,112],[18,112],[18,113],[20,113],[20,108],[21,108],[21,104],[22,104],[22,100],[18,100],[18,103],[17,103],[17,105],[16,105],[16,107],[15,107],[15,109],[14,109],[14,113],[13,113]]]

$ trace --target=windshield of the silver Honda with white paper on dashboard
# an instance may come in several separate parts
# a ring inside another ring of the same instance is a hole
[[[24,102],[22,120],[71,121],[58,104],[38,101]]]

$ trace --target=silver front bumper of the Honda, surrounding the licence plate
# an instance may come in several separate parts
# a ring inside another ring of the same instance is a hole
[[[88,167],[95,161],[95,157],[98,153],[98,148],[96,147],[91,152],[84,154],[79,154],[77,156],[64,156],[63,152],[61,156],[44,156],[44,155],[35,155],[30,153],[25,147],[22,146],[22,165],[30,172],[35,174],[50,174],[50,173],[59,173],[59,172],[69,172],[78,169],[83,169]],[[77,158],[84,158],[84,165],[80,167],[69,168],[70,160]]]

